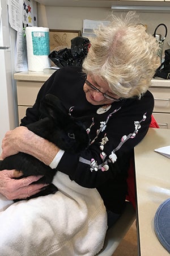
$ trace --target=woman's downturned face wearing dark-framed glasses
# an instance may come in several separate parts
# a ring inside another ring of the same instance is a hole
[[[95,86],[95,88],[92,88],[92,86]],[[107,82],[99,76],[87,75],[87,80],[84,82],[83,90],[84,93],[86,93],[87,101],[92,105],[112,104],[119,98],[111,91]],[[104,94],[107,95],[104,96]],[[113,97],[113,99],[109,99],[107,96]]]

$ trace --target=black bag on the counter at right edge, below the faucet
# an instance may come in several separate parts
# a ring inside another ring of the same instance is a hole
[[[159,66],[159,68],[156,69],[154,78],[155,77],[161,77],[163,79],[170,79],[170,49],[165,50],[165,60]]]

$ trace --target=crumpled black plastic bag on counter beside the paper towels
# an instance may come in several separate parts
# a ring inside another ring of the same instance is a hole
[[[89,47],[90,40],[88,38],[76,36],[76,38],[71,39],[71,49],[64,48],[59,51],[53,51],[48,57],[58,68],[66,66],[82,67]]]

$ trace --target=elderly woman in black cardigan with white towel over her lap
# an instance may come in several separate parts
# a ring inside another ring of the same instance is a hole
[[[148,86],[159,66],[157,51],[155,38],[134,13],[125,18],[113,15],[109,26],[101,26],[91,40],[83,69],[61,68],[45,82],[22,126],[5,135],[2,158],[19,151],[35,156],[52,171],[57,169],[53,183],[59,191],[3,207],[2,255],[95,255],[100,251],[106,212],[113,223],[124,210],[133,148],[151,122],[154,98]],[[24,127],[41,118],[39,105],[47,93],[61,99],[69,114],[83,119],[91,139],[86,150],[65,152]],[[44,186],[32,184],[39,177],[15,180],[13,172],[0,172],[3,200],[26,198]]]

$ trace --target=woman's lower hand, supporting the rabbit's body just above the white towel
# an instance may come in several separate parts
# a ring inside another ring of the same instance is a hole
[[[39,180],[42,176],[29,176],[22,179],[14,179],[14,177],[22,176],[22,173],[16,175],[16,170],[0,171],[0,193],[8,200],[25,199],[41,191],[41,188],[47,184],[31,184],[33,181]]]

